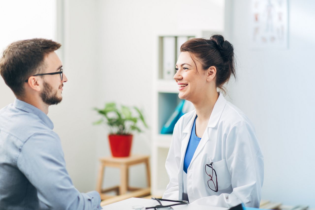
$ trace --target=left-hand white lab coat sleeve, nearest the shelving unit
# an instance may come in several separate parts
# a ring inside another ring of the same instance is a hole
[[[164,199],[178,200],[178,172],[180,170],[181,131],[179,119],[174,127],[169,153],[166,158],[165,168],[169,176],[169,184],[163,194]]]

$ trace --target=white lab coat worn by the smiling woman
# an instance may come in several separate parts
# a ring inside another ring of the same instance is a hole
[[[183,162],[195,117],[193,110],[175,125],[165,163],[170,181],[163,198],[182,200]],[[217,173],[218,192],[207,184],[205,165],[210,162]],[[189,202],[226,208],[244,203],[258,208],[263,177],[263,155],[252,123],[220,93],[187,169]]]

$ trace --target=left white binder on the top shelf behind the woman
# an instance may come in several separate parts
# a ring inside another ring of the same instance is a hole
[[[163,37],[163,79],[173,79],[175,56],[175,37]]]

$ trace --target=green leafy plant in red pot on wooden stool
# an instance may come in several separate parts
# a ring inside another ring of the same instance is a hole
[[[127,106],[117,108],[115,103],[106,103],[104,109],[94,108],[102,118],[93,124],[107,124],[110,128],[108,135],[109,144],[111,147],[112,156],[126,157],[130,155],[132,144],[132,132],[142,132],[138,127],[138,122],[141,121],[147,128],[147,124],[141,111],[137,107],[130,109]],[[134,115],[136,113],[137,116]]]

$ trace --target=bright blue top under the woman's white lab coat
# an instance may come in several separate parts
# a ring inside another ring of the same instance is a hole
[[[192,161],[192,156],[194,156],[197,146],[201,139],[196,135],[196,119],[197,119],[197,116],[195,117],[194,124],[192,126],[192,133],[190,134],[189,142],[188,142],[186,153],[185,153],[185,158],[184,158],[185,173],[187,173],[187,169],[190,165],[190,162]]]

